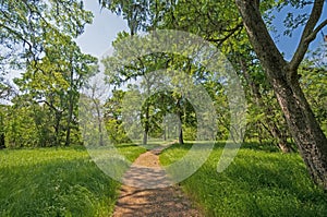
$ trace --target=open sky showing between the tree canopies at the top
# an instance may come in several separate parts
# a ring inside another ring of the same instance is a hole
[[[126,22],[121,16],[112,14],[107,9],[100,10],[99,3],[96,0],[84,0],[85,9],[93,11],[95,17],[92,25],[87,25],[85,33],[80,36],[76,41],[86,53],[100,58],[110,47],[112,40],[114,40],[117,34],[121,31],[129,31]],[[308,10],[308,9],[305,9]],[[281,52],[284,53],[287,60],[290,60],[298,43],[300,40],[301,28],[293,32],[293,37],[283,36],[283,20],[290,8],[281,10],[279,13],[275,13],[276,19],[274,25],[277,28],[277,34],[272,34],[274,39],[277,41],[277,46]],[[291,11],[292,12],[292,11]],[[324,13],[327,14],[325,7]],[[326,19],[326,15],[323,15]],[[325,27],[325,34],[327,29]],[[277,37],[279,35],[279,37]],[[323,43],[320,33],[317,35],[315,41],[312,43],[310,49],[314,49]]]

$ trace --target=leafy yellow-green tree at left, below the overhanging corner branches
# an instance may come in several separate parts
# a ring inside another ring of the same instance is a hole
[[[71,131],[77,129],[78,89],[95,72],[96,59],[82,53],[69,36],[56,34],[51,43],[53,45],[45,46],[46,56],[38,61],[37,69],[29,64],[15,83],[29,100],[48,107],[47,119],[53,121],[55,145],[63,143],[69,146]]]

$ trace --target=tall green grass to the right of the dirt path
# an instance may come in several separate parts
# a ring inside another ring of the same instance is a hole
[[[180,159],[190,147],[166,149],[161,164]],[[313,184],[298,154],[245,144],[234,161],[217,173],[222,149],[217,144],[201,169],[181,183],[206,216],[327,216],[327,194]]]

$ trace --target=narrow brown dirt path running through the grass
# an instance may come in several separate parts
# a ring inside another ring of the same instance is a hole
[[[203,216],[178,186],[171,186],[159,165],[164,148],[146,152],[133,162],[124,174],[113,217]]]

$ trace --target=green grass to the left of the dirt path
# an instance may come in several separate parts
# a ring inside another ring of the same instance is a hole
[[[131,161],[145,152],[118,148]],[[0,216],[110,216],[119,188],[83,147],[0,150]]]

